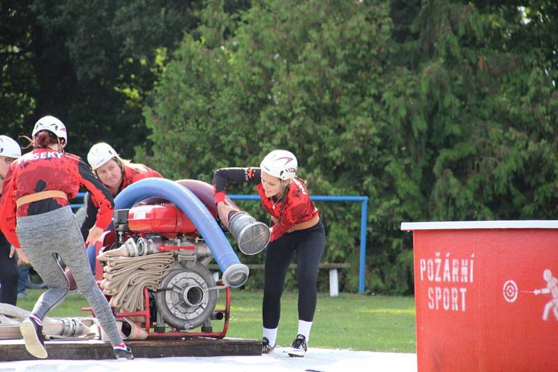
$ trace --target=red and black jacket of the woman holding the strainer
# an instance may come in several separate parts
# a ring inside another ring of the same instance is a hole
[[[289,231],[295,224],[309,221],[318,215],[318,210],[308,195],[306,186],[299,178],[291,180],[289,192],[283,199],[274,201],[268,198],[262,186],[262,171],[259,168],[223,168],[218,169],[213,175],[213,189],[215,189],[215,202],[225,201],[225,187],[227,181],[248,182],[257,185],[259,198],[265,210],[273,217],[278,219],[278,223],[273,226],[271,241],[280,238]],[[281,205],[282,213],[280,213]]]

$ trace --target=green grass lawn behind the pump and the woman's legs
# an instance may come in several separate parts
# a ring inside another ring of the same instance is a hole
[[[17,306],[31,309],[40,290],[27,290],[29,299]],[[221,293],[217,308],[223,308]],[[284,293],[281,302],[278,345],[288,346],[296,336],[298,313],[296,292]],[[262,292],[232,290],[231,321],[227,337],[262,337]],[[69,295],[50,316],[86,316],[79,309],[88,307],[82,295]],[[319,293],[310,345],[316,348],[416,352],[413,297],[365,296],[340,293],[330,297]],[[213,322],[215,330],[222,323]]]

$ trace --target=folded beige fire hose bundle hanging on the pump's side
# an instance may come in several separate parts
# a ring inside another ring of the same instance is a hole
[[[144,287],[159,289],[174,261],[172,252],[140,257],[111,257],[109,252],[100,254],[98,260],[107,261],[100,288],[112,296],[110,306],[127,312],[143,310]]]

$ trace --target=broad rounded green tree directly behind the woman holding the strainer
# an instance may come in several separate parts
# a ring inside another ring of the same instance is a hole
[[[153,160],[171,177],[211,182],[220,166],[257,166],[289,148],[312,193],[377,194],[389,6],[260,1],[229,18],[228,33],[213,19],[183,41],[146,108]],[[356,263],[359,206],[319,207],[335,247],[326,260]]]

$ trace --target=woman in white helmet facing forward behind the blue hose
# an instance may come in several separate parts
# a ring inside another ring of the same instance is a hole
[[[156,177],[163,178],[158,171],[144,164],[134,164],[130,160],[122,159],[116,150],[105,142],[99,142],[91,146],[87,154],[87,162],[98,176],[100,181],[110,190],[112,196],[118,195],[123,189],[129,185],[143,180],[144,178]],[[95,224],[98,212],[98,203],[90,197],[85,196],[85,219],[81,226],[84,238],[89,234],[89,229]],[[89,265],[93,274],[95,273],[96,252],[95,246],[91,245],[87,248],[87,256],[89,257]]]

